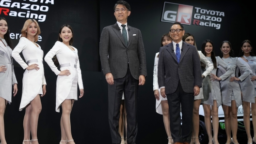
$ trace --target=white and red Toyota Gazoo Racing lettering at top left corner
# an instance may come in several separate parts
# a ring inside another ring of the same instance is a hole
[[[18,16],[25,18],[38,19],[39,22],[46,20],[46,14],[38,14],[48,12],[49,7],[42,4],[54,4],[54,0],[18,0],[21,2],[13,2],[12,0],[0,1],[0,15]],[[26,3],[26,1],[36,2],[35,4]],[[40,5],[38,5],[40,4]]]

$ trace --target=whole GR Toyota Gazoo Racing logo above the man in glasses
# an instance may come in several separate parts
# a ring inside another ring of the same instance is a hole
[[[180,22],[185,25],[197,25],[221,29],[222,17],[224,12],[207,10],[194,7],[195,14],[192,16],[193,6],[171,2],[164,2],[162,12],[162,22]],[[193,21],[192,21],[193,18]]]

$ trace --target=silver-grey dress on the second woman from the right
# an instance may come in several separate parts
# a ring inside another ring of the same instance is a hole
[[[250,75],[250,71],[247,67],[238,60],[238,58],[222,58],[224,62],[233,70],[233,73],[224,81],[220,81],[221,83],[221,91],[222,91],[222,103],[226,106],[231,106],[231,101],[236,101],[236,106],[239,107],[242,104],[241,99],[241,89],[239,86],[239,82],[234,80],[233,82],[229,82],[231,77],[237,76],[235,73],[240,70],[242,74],[239,79],[242,82],[248,75]],[[218,76],[223,75],[224,71],[218,71]]]

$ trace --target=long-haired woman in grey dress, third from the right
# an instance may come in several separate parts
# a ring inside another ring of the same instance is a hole
[[[214,69],[211,71],[210,76],[208,75],[203,79],[203,94],[202,99],[204,113],[205,113],[205,124],[206,130],[209,137],[209,144],[219,144],[218,142],[218,129],[219,129],[219,115],[218,107],[222,104],[221,88],[219,81],[223,81],[228,78],[233,70],[220,58],[215,57],[213,52],[213,43],[210,40],[205,40],[201,47],[202,53],[206,58],[213,63]],[[224,68],[226,71],[222,76],[216,76],[217,66]],[[202,69],[206,66],[202,63]],[[213,127],[213,138],[211,137],[211,116],[212,116],[212,127]]]

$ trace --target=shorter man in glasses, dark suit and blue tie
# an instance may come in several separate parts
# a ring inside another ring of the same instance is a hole
[[[158,62],[158,85],[161,96],[167,96],[170,127],[175,144],[189,144],[191,141],[193,101],[202,86],[197,49],[182,42],[184,33],[181,23],[175,22],[172,25],[170,35],[173,42],[160,48]]]

